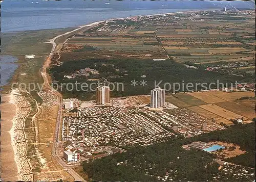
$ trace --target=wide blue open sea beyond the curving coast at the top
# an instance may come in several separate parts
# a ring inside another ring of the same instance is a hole
[[[106,2],[107,4],[105,4]],[[168,3],[165,2],[145,2],[143,4],[140,1],[5,0],[1,4],[1,31],[13,32],[77,27],[79,25],[112,18],[200,9],[200,7],[172,7],[168,6]]]

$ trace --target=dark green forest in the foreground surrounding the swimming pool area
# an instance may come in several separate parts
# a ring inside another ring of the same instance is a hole
[[[173,181],[212,181],[219,175],[219,181],[248,181],[243,176],[230,175],[228,179],[216,157],[200,149],[185,150],[183,144],[193,141],[223,141],[236,143],[247,152],[227,162],[254,167],[255,123],[232,125],[224,131],[215,131],[192,138],[169,140],[148,147],[127,149],[108,157],[83,163],[88,180],[108,181],[156,181],[157,176],[172,176]],[[119,164],[119,165],[117,165]],[[254,173],[254,169],[248,168]],[[253,176],[252,176],[253,177]],[[159,178],[158,178],[159,179]],[[251,179],[253,180],[253,179]],[[168,180],[167,180],[168,181]]]

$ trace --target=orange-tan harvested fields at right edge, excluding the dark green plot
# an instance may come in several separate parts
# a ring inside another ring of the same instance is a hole
[[[241,97],[254,97],[253,92],[222,92],[222,91],[208,91],[208,92],[194,92],[189,93],[191,96],[201,98],[203,101],[209,103],[208,105],[201,105],[198,107],[188,107],[188,109],[205,116],[206,118],[214,118],[218,123],[232,124],[229,119],[244,117],[244,120],[250,122],[255,117],[255,99],[236,100]],[[231,101],[233,100],[233,101]]]

